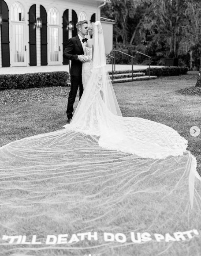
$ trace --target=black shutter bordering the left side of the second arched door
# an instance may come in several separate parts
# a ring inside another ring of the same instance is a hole
[[[42,28],[41,28],[41,66],[48,65],[48,29],[47,29],[47,12],[40,5]]]

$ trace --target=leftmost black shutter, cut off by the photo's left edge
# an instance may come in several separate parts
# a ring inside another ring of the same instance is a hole
[[[10,67],[10,47],[9,47],[9,17],[8,7],[4,0],[0,0],[0,13],[2,14],[1,25],[1,55],[2,67]]]

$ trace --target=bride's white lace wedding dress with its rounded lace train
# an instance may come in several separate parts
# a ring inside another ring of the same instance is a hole
[[[92,48],[86,47],[84,52],[89,60],[82,67],[84,94],[72,123],[64,127],[99,136],[101,147],[138,157],[159,159],[183,155],[187,141],[171,127],[143,118],[121,116],[106,65],[100,67],[100,62],[97,67],[93,65]]]

